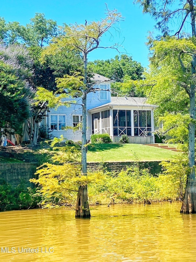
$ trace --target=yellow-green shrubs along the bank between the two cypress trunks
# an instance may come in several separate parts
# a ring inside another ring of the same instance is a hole
[[[102,180],[88,187],[91,203],[118,203],[183,200],[187,161],[183,158],[162,162],[163,174],[153,176],[148,169],[133,166],[118,175],[99,171]]]

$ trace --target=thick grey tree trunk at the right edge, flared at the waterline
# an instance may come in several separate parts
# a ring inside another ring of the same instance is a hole
[[[193,56],[191,72],[195,74],[196,57]],[[190,123],[189,131],[189,151],[188,151],[188,175],[184,193],[184,200],[180,213],[196,213],[196,183],[195,183],[195,84],[190,84]]]

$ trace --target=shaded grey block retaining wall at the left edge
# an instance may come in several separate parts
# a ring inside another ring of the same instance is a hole
[[[5,180],[12,187],[21,184],[26,187],[35,187],[29,182],[30,178],[35,177],[36,163],[0,163],[0,179]]]

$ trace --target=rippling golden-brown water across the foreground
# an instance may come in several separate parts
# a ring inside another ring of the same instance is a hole
[[[64,209],[1,212],[0,261],[195,262],[196,214],[180,206],[100,206],[90,220]]]

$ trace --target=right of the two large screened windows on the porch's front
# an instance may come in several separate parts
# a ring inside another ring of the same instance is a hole
[[[150,110],[134,110],[134,135],[135,136],[151,136],[151,111]]]

